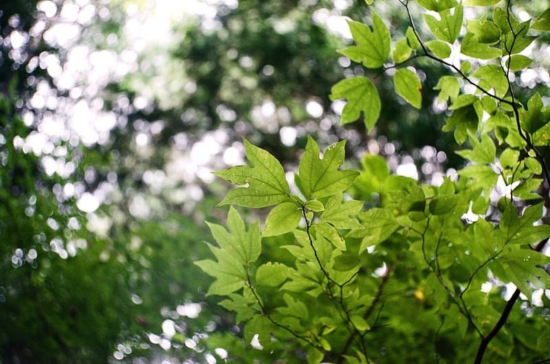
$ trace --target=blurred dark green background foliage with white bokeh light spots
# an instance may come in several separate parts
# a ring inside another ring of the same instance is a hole
[[[399,35],[397,5],[380,13]],[[245,360],[241,329],[205,297],[210,282],[192,264],[207,254],[204,220],[224,217],[214,205],[228,186],[210,172],[243,162],[242,137],[291,168],[308,134],[322,147],[347,139],[349,163],[380,154],[426,181],[460,165],[432,91],[445,70],[429,63],[432,113],[406,106],[373,73],[378,126],[338,126],[343,103],[328,99],[330,88],[364,73],[336,52],[350,42],[344,16],[366,21],[369,9],[352,0],[1,3],[0,363]],[[518,82],[546,89],[548,59]],[[399,358],[404,348],[383,350]],[[278,350],[303,360],[284,343]]]

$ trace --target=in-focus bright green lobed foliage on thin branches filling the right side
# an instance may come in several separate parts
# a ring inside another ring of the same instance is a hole
[[[422,65],[445,69],[434,89],[446,105],[442,129],[467,160],[456,175],[419,184],[374,155],[360,170],[342,168],[345,141],[321,153],[311,137],[293,183],[292,171],[246,140],[251,166],[217,172],[238,185],[221,205],[273,206],[265,223],[250,225],[230,207],[228,229],[209,224],[215,260],[197,262],[215,278],[208,294],[236,312],[245,344],[257,339],[263,348],[248,356],[548,359],[550,117],[543,98],[514,80],[533,65],[526,49],[538,38],[544,44],[549,10],[525,21],[509,2],[497,3],[395,1],[409,23],[392,39],[375,1],[372,27],[350,22],[355,45],[340,51],[393,79],[417,109],[425,107]],[[342,80],[331,98],[347,99],[342,124],[362,113],[373,128],[373,80]]]

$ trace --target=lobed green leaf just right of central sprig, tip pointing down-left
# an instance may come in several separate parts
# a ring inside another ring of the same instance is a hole
[[[362,253],[371,245],[380,244],[399,227],[395,216],[387,209],[369,209],[360,214],[360,220],[364,229],[357,232],[353,231],[363,236],[359,253]]]

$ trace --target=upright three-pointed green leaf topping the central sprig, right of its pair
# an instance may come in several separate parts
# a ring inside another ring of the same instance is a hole
[[[338,194],[349,187],[359,172],[338,168],[344,163],[344,144],[339,141],[329,146],[322,157],[317,143],[307,137],[305,152],[300,161],[298,175],[306,198],[320,198]]]

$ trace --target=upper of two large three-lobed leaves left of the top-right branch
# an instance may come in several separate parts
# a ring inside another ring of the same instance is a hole
[[[380,16],[373,10],[373,30],[358,21],[348,21],[348,25],[357,45],[340,49],[338,52],[367,68],[382,67],[390,56],[391,38]]]

